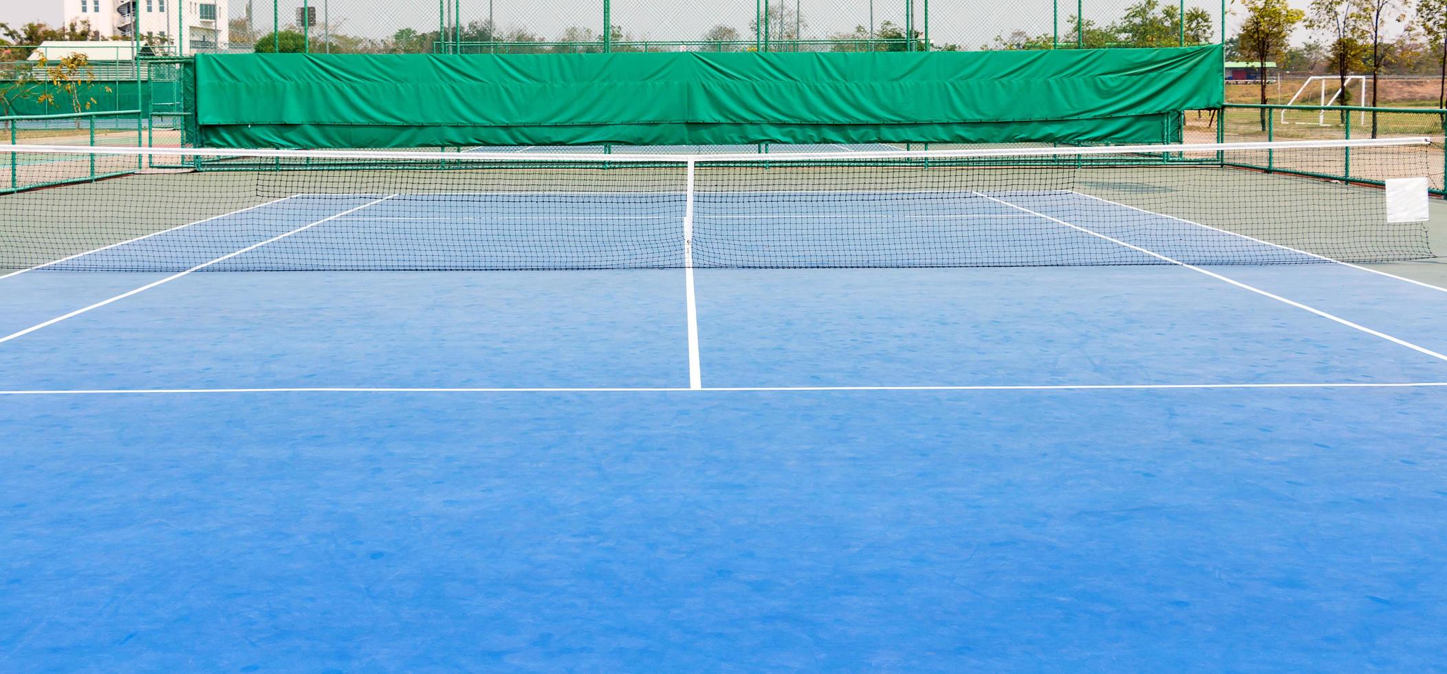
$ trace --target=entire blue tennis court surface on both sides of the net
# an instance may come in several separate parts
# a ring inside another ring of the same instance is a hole
[[[877,197],[295,194],[0,276],[0,668],[1443,667],[1447,291]]]

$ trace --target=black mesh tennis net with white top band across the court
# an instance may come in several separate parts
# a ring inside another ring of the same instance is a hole
[[[45,185],[0,195],[10,272],[1405,260],[1433,255],[1427,229],[1389,221],[1382,185],[1441,163],[1427,139],[767,156],[3,152],[17,184]],[[122,175],[85,178],[96,166]],[[1354,178],[1328,179],[1341,175]]]

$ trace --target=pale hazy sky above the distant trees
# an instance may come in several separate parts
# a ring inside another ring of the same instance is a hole
[[[58,25],[62,16],[62,1],[10,0],[4,9],[0,9],[0,22],[20,25],[39,20]],[[330,13],[333,26],[340,25],[339,30],[352,35],[383,38],[398,27],[428,30],[438,25],[437,0],[314,1],[318,3],[318,14]],[[447,1],[450,4],[453,0]],[[486,19],[489,0],[459,1],[464,23]],[[794,1],[799,3],[800,13],[807,23],[802,30],[805,38],[828,38],[833,33],[848,32],[855,25],[868,23],[868,0],[783,1],[790,6],[790,10]],[[916,12],[922,12],[923,0],[915,1]],[[1066,16],[1075,13],[1075,3],[1071,0],[1059,1],[1058,16],[1064,26]],[[1087,19],[1107,23],[1119,17],[1121,10],[1134,0],[1082,1],[1085,1]],[[1307,0],[1291,1],[1298,7],[1307,4]],[[218,0],[218,3],[227,3],[227,0]],[[232,17],[246,16],[247,3],[245,0],[229,0],[227,4]],[[301,0],[279,0],[279,4],[285,23],[288,17],[295,16]],[[525,27],[544,39],[557,39],[569,26],[592,27],[595,32],[602,26],[602,0],[491,0],[491,4],[499,27]],[[271,1],[252,0],[252,6],[253,20],[269,26]],[[1187,6],[1204,7],[1213,17],[1220,14],[1218,0],[1187,0]],[[875,0],[875,25],[884,20],[903,23],[903,0],[890,3]],[[936,45],[956,43],[977,49],[990,43],[996,35],[1009,35],[1013,29],[1023,29],[1032,35],[1048,35],[1053,12],[1052,0],[1004,0],[1000,3],[933,0],[929,7],[930,39]],[[625,33],[635,39],[699,39],[709,27],[721,23],[737,29],[747,38],[751,35],[750,22],[752,17],[754,0],[612,0],[612,23],[621,25]],[[1237,20],[1239,16],[1227,19],[1230,30],[1234,30]],[[1217,26],[1214,30],[1220,30],[1220,27]],[[1294,42],[1301,43],[1312,38],[1310,30],[1298,29]]]

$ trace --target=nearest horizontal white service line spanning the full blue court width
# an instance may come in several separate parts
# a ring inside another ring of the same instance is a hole
[[[1053,383],[981,386],[638,386],[638,388],[480,388],[480,386],[276,386],[229,389],[32,389],[0,391],[0,396],[25,395],[164,395],[164,393],[810,393],[832,391],[1215,391],[1215,389],[1414,389],[1447,388],[1447,382],[1291,382],[1291,383]]]

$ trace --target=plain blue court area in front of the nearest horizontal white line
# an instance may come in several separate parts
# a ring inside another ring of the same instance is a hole
[[[1441,667],[1447,391],[0,399],[0,665]]]

